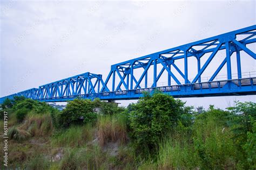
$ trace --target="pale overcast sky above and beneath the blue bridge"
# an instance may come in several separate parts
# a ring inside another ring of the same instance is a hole
[[[85,72],[105,80],[114,63],[255,22],[255,1],[1,1],[0,96]],[[226,108],[256,97],[183,100]]]

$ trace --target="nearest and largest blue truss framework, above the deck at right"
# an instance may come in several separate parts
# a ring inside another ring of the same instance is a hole
[[[238,40],[237,37],[240,35],[245,37]],[[255,35],[256,26],[253,25],[237,31],[221,34],[219,36],[145,55],[140,58],[120,62],[111,66],[111,71],[107,76],[105,84],[106,86],[110,86],[111,82],[109,80],[112,77],[112,91],[132,90],[141,88],[140,84],[144,79],[144,88],[147,88],[147,72],[151,67],[153,67],[152,87],[157,87],[157,82],[164,71],[168,73],[167,81],[169,86],[171,86],[171,78],[176,82],[176,84],[181,84],[180,80],[177,79],[177,75],[171,72],[171,67],[175,68],[181,77],[183,77],[183,84],[201,82],[201,75],[204,73],[207,67],[211,67],[212,59],[217,52],[221,50],[226,51],[226,58],[220,63],[219,67],[215,70],[214,74],[211,76],[211,79],[208,81],[213,81],[225,64],[227,64],[227,79],[232,79],[230,58],[234,52],[237,54],[238,78],[241,79],[240,51],[244,51],[254,60],[256,59],[255,53],[246,47],[246,45],[256,42],[256,38],[253,38]],[[208,53],[210,53],[210,56],[204,65],[201,66],[201,58]],[[188,69],[187,61],[187,59],[190,57],[194,57],[198,61],[198,73],[193,77],[191,82],[188,80],[190,70]],[[183,68],[179,68],[175,64],[175,61],[180,59],[184,60],[184,65],[182,66]],[[158,74],[157,67],[162,68]],[[139,79],[136,80],[136,77],[133,76],[133,72],[138,68],[144,68],[144,71],[140,74]],[[181,72],[183,69],[184,73]],[[118,83],[115,82],[116,76],[118,76],[120,79]],[[116,86],[116,84],[118,85]],[[121,85],[123,85],[123,89],[121,88]],[[101,92],[105,91],[109,91],[109,89],[102,88]]]

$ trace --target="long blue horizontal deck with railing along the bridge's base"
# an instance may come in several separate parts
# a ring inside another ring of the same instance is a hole
[[[207,97],[207,96],[232,96],[232,95],[256,95],[256,77],[244,79],[221,80],[163,86],[156,88],[142,88],[136,90],[110,91],[98,94],[70,95],[64,97],[39,98],[45,102],[65,102],[74,98],[100,98],[100,100],[132,100],[143,97],[144,92],[151,93],[154,90],[172,95],[174,98],[181,97]]]

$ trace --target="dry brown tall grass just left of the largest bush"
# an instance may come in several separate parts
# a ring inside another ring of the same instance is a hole
[[[107,141],[124,144],[127,140],[127,130],[125,117],[122,115],[104,115],[98,118],[97,122],[98,138],[100,146],[103,146]]]

